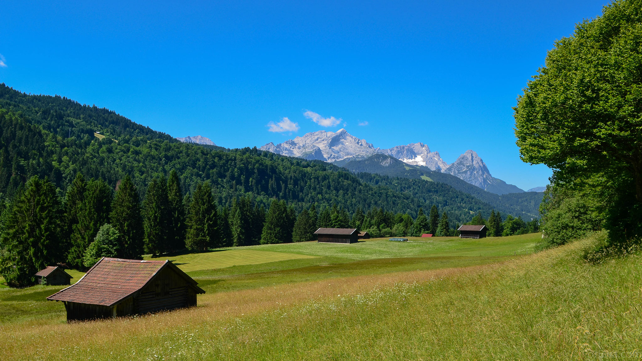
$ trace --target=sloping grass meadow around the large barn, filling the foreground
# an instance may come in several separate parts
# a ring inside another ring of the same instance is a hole
[[[536,236],[506,238],[506,244],[488,239],[476,250],[469,241],[446,240],[371,241],[352,251],[275,245],[270,252],[284,247],[315,258],[190,271],[207,290],[198,307],[130,319],[65,324],[64,312],[55,310],[62,304],[44,303],[51,306],[33,312],[42,303],[38,297],[55,287],[3,289],[3,310],[22,315],[5,319],[3,311],[0,358],[641,358],[642,258],[588,265],[580,254],[591,240],[529,254]],[[367,257],[390,252],[388,259]],[[324,259],[336,262],[315,264]],[[229,288],[221,289],[226,282]]]

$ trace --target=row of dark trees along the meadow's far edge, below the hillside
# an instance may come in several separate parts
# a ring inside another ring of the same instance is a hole
[[[216,202],[209,182],[199,182],[184,195],[175,170],[153,178],[144,197],[126,176],[112,189],[105,180],[77,173],[64,197],[48,179],[31,177],[3,206],[0,216],[0,274],[12,286],[28,286],[47,265],[65,264],[87,270],[101,257],[141,259],[143,254],[315,240],[319,227],[356,228],[372,237],[457,235],[447,212],[433,205],[416,218],[381,207],[350,214],[334,204],[317,211],[312,203],[297,213],[293,204],[272,198],[269,206],[251,195]],[[537,231],[537,220],[524,222],[492,211],[478,213],[472,224],[486,224],[491,236]]]

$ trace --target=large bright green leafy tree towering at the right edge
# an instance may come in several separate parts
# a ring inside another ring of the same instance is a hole
[[[642,1],[620,0],[555,42],[515,107],[525,162],[603,200],[609,236],[642,219]]]

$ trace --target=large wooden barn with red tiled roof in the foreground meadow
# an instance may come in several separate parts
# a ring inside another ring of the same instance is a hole
[[[205,291],[170,261],[101,258],[75,285],[47,297],[62,301],[67,321],[122,317],[196,306]]]

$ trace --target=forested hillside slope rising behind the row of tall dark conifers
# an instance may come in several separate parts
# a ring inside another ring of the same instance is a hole
[[[256,149],[222,152],[180,143],[107,109],[81,105],[60,96],[35,96],[0,86],[2,143],[0,192],[13,195],[31,175],[49,177],[63,192],[76,173],[103,179],[110,186],[126,174],[144,196],[154,177],[176,170],[184,191],[210,180],[218,204],[250,193],[268,206],[276,197],[300,210],[317,202],[321,209],[339,204],[349,212],[410,212],[433,204],[453,222],[473,213],[490,214],[492,206],[446,184],[405,184],[379,175],[363,182],[350,172],[320,161],[292,159]],[[99,131],[102,139],[94,136]],[[396,182],[396,183],[395,183]],[[406,182],[405,180],[403,182]],[[419,187],[417,187],[419,186]],[[392,188],[391,188],[392,187]]]

